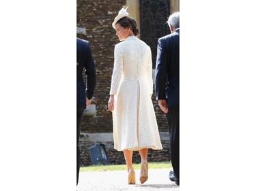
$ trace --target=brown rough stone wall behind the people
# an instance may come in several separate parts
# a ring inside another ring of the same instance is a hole
[[[91,103],[96,105],[96,116],[83,118],[81,133],[112,133],[112,114],[107,108],[107,103],[109,101],[111,75],[113,72],[114,47],[115,44],[119,43],[119,39],[115,35],[115,29],[112,27],[112,22],[119,10],[126,5],[126,1],[77,0],[76,3],[77,37],[89,41],[97,71],[96,89]],[[155,95],[152,97],[152,101],[156,111],[159,131],[168,132],[164,114],[156,103]],[[169,152],[167,151],[168,144],[166,143],[165,151],[149,152],[149,156],[152,154],[152,159],[150,160],[169,160],[169,156],[167,156],[167,152]],[[82,166],[87,165],[87,161],[90,161],[88,147],[91,145],[93,145],[93,142],[80,141]],[[106,142],[106,149],[111,162],[116,164],[124,163],[122,152],[113,150],[113,143]],[[135,153],[134,160],[136,161]]]

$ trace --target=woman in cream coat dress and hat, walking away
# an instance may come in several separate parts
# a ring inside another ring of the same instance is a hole
[[[152,103],[152,56],[150,47],[138,39],[137,22],[122,8],[112,24],[121,41],[115,45],[109,111],[113,114],[114,148],[124,152],[128,184],[135,184],[132,154],[141,156],[140,181],[148,178],[147,151],[162,150]]]

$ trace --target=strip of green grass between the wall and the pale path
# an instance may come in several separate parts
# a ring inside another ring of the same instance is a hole
[[[148,162],[149,169],[170,169],[171,162]],[[141,169],[141,164],[133,164],[134,169]],[[126,164],[109,164],[109,165],[90,165],[88,167],[81,167],[81,172],[90,171],[121,171],[126,170]]]

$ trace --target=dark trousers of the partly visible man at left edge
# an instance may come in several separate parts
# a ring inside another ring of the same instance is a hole
[[[84,107],[76,107],[76,186],[79,183],[79,170],[80,170],[80,150],[79,150],[79,137],[81,123],[83,120]]]

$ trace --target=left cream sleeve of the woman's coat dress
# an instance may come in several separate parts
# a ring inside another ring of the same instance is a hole
[[[120,84],[122,72],[123,72],[123,52],[119,44],[115,45],[114,56],[115,56],[115,60],[114,60],[114,69],[113,69],[113,74],[111,79],[110,94],[117,94],[117,90],[119,88],[119,84]]]

